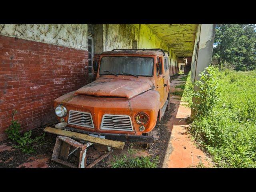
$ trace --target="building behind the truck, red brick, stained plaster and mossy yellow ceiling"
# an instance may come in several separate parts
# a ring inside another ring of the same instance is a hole
[[[166,26],[170,32],[175,27],[178,30],[190,27],[193,33],[190,49],[193,49],[198,24],[162,25]],[[7,138],[4,131],[13,118],[21,124],[22,132],[56,120],[53,100],[92,82],[93,62],[99,62],[104,51],[161,48],[170,53],[170,75],[177,74],[181,53],[173,40],[168,41],[171,34],[167,40],[161,36],[160,27],[151,24],[0,24],[0,141]],[[190,32],[187,31],[185,38]],[[188,42],[185,38],[184,42]],[[182,41],[179,38],[174,41],[178,40]],[[190,52],[188,56],[192,56],[192,50]],[[184,49],[184,53],[188,50]]]

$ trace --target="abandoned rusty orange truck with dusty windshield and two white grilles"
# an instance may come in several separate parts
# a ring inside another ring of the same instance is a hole
[[[54,100],[66,129],[120,141],[153,142],[150,136],[169,110],[169,53],[162,49],[115,49],[94,63],[96,80]]]

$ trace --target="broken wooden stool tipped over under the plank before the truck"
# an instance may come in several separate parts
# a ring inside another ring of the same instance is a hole
[[[87,151],[87,148],[92,144],[93,144],[92,142],[83,144],[66,136],[57,136],[54,150],[52,153],[52,160],[54,162],[64,164],[71,168],[91,168],[92,166],[94,166],[95,164],[97,164],[98,162],[100,162],[102,159],[104,159],[106,156],[108,156],[113,152],[113,150],[110,150],[109,152],[100,156],[90,165],[86,166],[86,151]],[[70,152],[70,148],[72,148],[71,152]],[[67,162],[68,156],[70,156],[76,150],[78,150],[77,165]]]

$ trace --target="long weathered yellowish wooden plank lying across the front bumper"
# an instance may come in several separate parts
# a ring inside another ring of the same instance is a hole
[[[57,135],[62,135],[62,136],[76,138],[76,139],[80,139],[80,140],[84,140],[84,141],[89,141],[89,142],[96,143],[96,144],[102,144],[102,145],[110,146],[110,147],[117,148],[117,149],[123,149],[124,145],[125,145],[124,142],[120,142],[120,141],[113,141],[113,140],[108,140],[108,139],[97,138],[97,137],[89,136],[89,135],[82,134],[82,133],[60,130],[60,129],[56,129],[56,128],[52,128],[52,127],[46,127],[44,129],[44,131],[48,132],[48,133],[53,133],[53,134],[57,134]]]

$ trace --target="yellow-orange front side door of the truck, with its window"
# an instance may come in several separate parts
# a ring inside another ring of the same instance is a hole
[[[164,66],[162,57],[158,57],[156,63],[156,90],[160,93],[161,108],[164,106]]]

